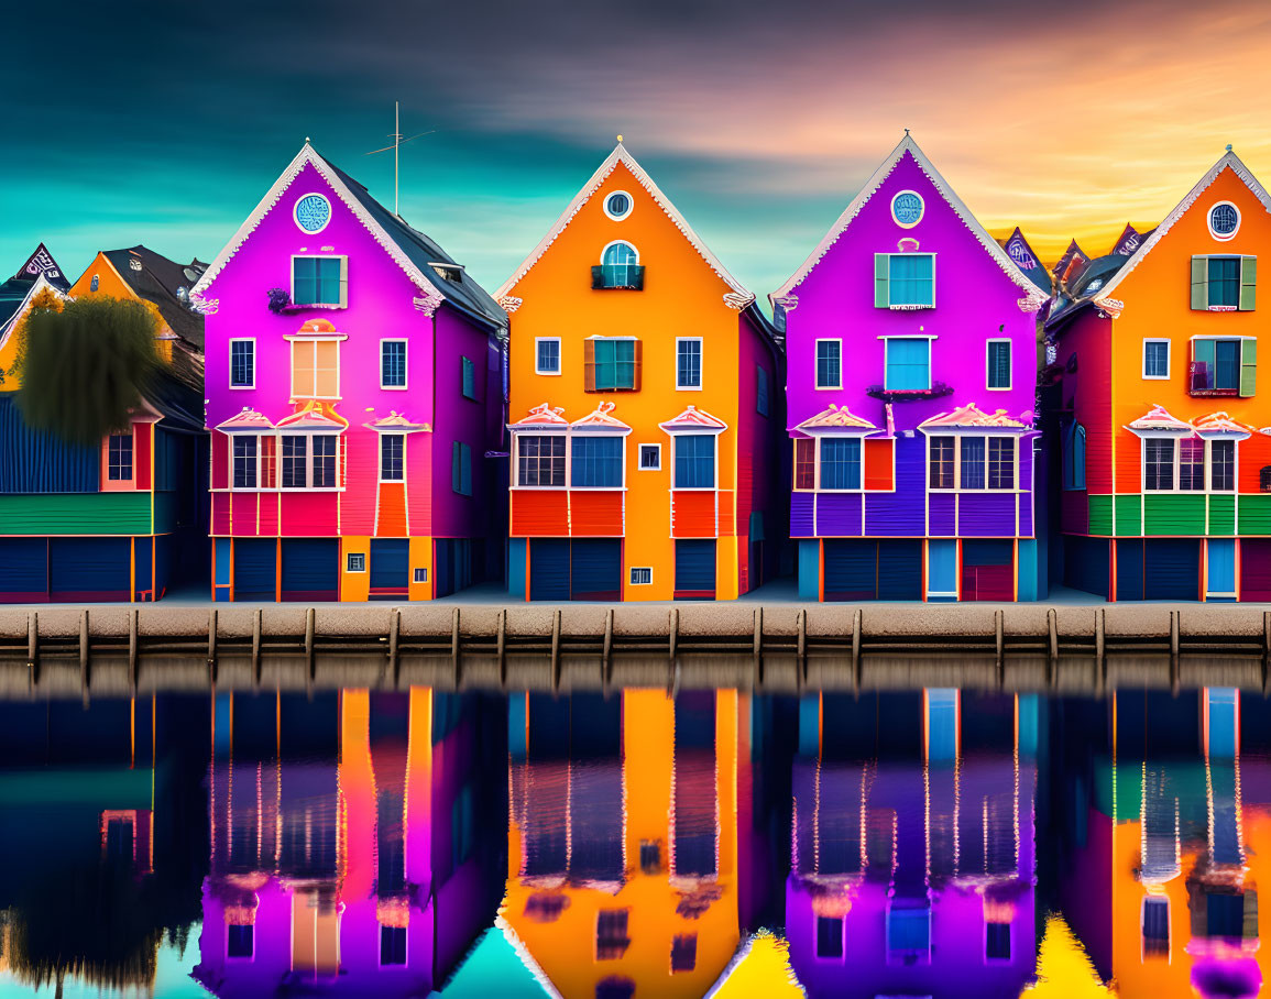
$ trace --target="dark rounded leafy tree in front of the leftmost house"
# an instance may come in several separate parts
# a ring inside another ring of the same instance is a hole
[[[128,425],[159,370],[159,320],[139,301],[72,299],[28,315],[18,357],[27,423],[66,441],[97,444]]]

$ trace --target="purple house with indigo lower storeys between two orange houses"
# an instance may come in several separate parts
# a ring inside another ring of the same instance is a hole
[[[773,294],[805,600],[1035,600],[1047,300],[909,135]]]

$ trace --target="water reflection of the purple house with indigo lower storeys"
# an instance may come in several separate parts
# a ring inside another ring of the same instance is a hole
[[[1036,942],[1037,700],[802,700],[791,963],[810,995],[1018,996]]]

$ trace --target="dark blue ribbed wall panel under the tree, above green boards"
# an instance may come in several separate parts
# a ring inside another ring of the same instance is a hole
[[[0,395],[0,493],[95,493],[100,460],[99,447],[32,430],[13,395]]]

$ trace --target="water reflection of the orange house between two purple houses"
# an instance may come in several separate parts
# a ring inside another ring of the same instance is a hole
[[[554,994],[700,996],[726,970],[750,712],[733,690],[513,695],[501,924]]]

